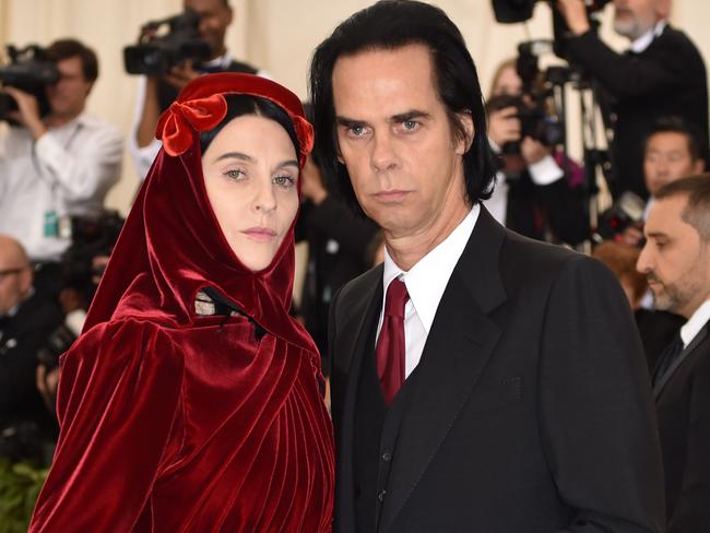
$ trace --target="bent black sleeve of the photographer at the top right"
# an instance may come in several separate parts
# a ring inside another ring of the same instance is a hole
[[[676,46],[672,36],[661,38],[664,46],[656,47],[658,52],[628,56],[617,54],[590,31],[569,39],[569,54],[572,63],[583,67],[612,95],[635,97],[666,92],[688,79],[687,63],[677,59],[687,56],[679,49],[682,43]]]

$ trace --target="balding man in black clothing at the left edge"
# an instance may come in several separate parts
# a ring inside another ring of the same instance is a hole
[[[0,235],[0,455],[42,459],[57,435],[35,388],[37,351],[61,323],[57,304],[33,288],[33,269],[15,239]]]

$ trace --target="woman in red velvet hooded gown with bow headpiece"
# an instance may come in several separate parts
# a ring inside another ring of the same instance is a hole
[[[296,95],[248,74],[191,82],[83,335],[62,357],[55,460],[29,531],[326,532],[332,429],[288,316]]]

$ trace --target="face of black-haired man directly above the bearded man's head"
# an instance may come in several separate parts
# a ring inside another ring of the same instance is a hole
[[[651,196],[666,183],[699,174],[703,162],[694,159],[688,139],[675,131],[662,131],[649,138],[643,156],[646,188]]]

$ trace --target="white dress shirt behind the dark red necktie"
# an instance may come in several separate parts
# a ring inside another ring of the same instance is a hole
[[[382,311],[380,311],[377,325],[377,336],[379,336],[382,328],[387,288],[392,280],[401,276],[410,295],[404,308],[405,378],[419,364],[424,344],[431,330],[439,301],[449,283],[449,277],[451,277],[451,273],[469,242],[480,212],[481,206],[478,204],[474,205],[453,232],[429,253],[424,256],[409,272],[404,272],[394,263],[387,251],[387,247],[384,247]]]

